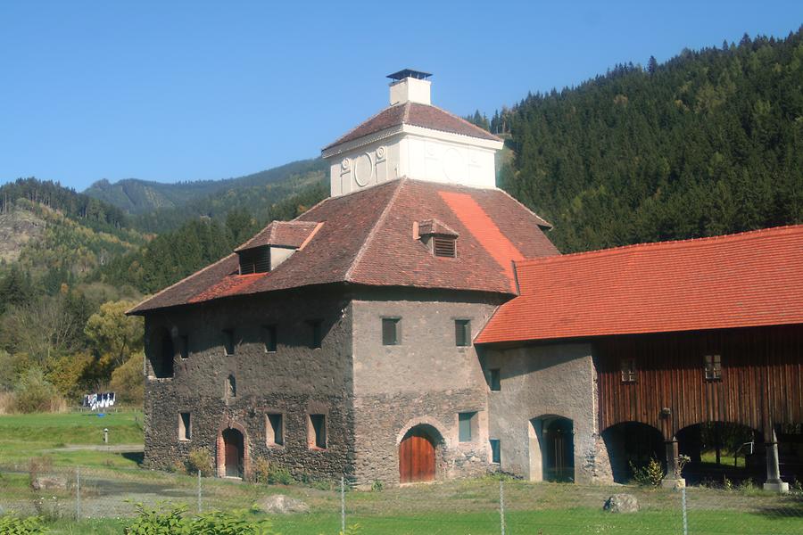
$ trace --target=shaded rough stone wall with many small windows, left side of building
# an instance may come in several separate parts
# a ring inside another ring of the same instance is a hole
[[[145,382],[145,463],[168,467],[191,449],[218,456],[219,433],[242,428],[245,470],[265,457],[296,477],[339,478],[353,473],[351,307],[343,294],[310,289],[220,300],[167,309],[145,321],[149,378]],[[320,319],[321,348],[310,348],[311,319]],[[277,350],[267,352],[263,325],[277,325]],[[176,355],[172,378],[153,377],[158,336],[170,333]],[[223,349],[223,330],[232,329],[234,355]],[[189,342],[181,358],[182,337]],[[236,396],[227,393],[228,375]],[[191,414],[190,440],[179,440],[180,412]],[[285,444],[266,443],[266,416],[284,415]],[[310,414],[327,416],[327,449],[310,448]],[[250,462],[249,462],[250,461]]]

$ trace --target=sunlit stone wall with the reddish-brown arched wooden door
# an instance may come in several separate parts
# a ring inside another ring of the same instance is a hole
[[[399,444],[415,425],[441,435],[436,479],[487,473],[488,387],[473,345],[455,345],[455,319],[472,338],[498,297],[452,292],[360,292],[352,301],[356,476],[399,482]],[[382,344],[382,318],[401,318],[401,343]],[[459,441],[458,413],[476,411],[476,436]]]

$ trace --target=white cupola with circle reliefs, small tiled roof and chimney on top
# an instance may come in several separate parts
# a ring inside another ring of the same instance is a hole
[[[333,197],[399,177],[496,187],[500,138],[432,105],[432,75],[388,75],[390,106],[321,151],[330,163]]]

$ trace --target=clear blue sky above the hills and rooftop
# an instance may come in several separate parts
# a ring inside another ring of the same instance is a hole
[[[435,73],[447,110],[491,114],[617,62],[801,22],[799,0],[5,0],[0,183],[237,177],[317,156],[386,105],[394,70]]]

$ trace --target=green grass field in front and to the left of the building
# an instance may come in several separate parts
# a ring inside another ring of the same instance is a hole
[[[187,475],[139,468],[140,457],[98,451],[103,428],[111,445],[142,443],[142,414],[109,416],[0,416],[0,507],[51,517],[54,533],[120,534],[134,513],[133,502],[152,505],[186,504],[194,513],[199,481]],[[91,448],[91,449],[76,449]],[[75,522],[75,491],[71,482],[59,490],[30,488],[29,457],[52,459],[51,473],[72,481],[81,466],[81,516]],[[16,469],[9,468],[17,465]],[[439,533],[481,535],[501,532],[499,481],[444,481],[382,491],[345,494],[349,525],[360,534],[402,535]],[[302,499],[309,514],[270,517],[282,535],[335,534],[340,530],[340,494],[322,485],[252,485],[203,478],[203,510],[243,510],[254,517],[253,504],[270,494]],[[635,495],[641,510],[609,514],[602,504],[611,494]],[[561,535],[575,533],[683,533],[681,495],[673,490],[639,487],[593,487],[560,483],[505,481],[506,534]],[[760,490],[725,491],[693,488],[687,491],[690,533],[803,534],[803,499],[779,497]],[[86,519],[86,517],[92,519]]]

